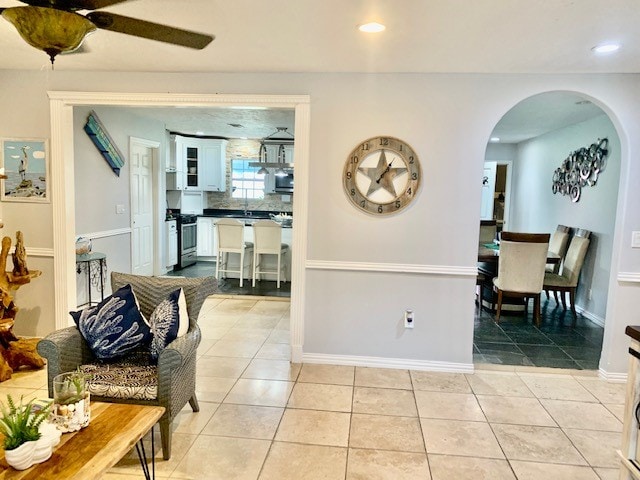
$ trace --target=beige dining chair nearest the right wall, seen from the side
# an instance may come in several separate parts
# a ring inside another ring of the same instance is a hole
[[[543,289],[549,296],[549,291],[553,292],[553,296],[558,302],[558,293],[560,293],[560,299],[562,301],[562,308],[567,309],[566,293],[569,293],[569,302],[571,304],[571,312],[573,318],[576,318],[576,289],[578,288],[578,279],[580,278],[580,271],[584,263],[584,257],[587,254],[589,248],[589,231],[576,230],[576,234],[571,239],[569,249],[564,258],[564,264],[562,266],[562,273],[545,273]]]

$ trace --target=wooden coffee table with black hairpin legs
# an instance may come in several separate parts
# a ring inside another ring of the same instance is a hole
[[[153,428],[163,414],[164,407],[92,402],[89,426],[78,432],[63,433],[60,443],[53,450],[53,455],[46,462],[27,470],[14,470],[7,464],[4,449],[0,444],[0,479],[100,478],[141,442],[142,437]],[[138,454],[140,455],[140,450]],[[143,465],[143,469],[145,467],[146,465]],[[149,476],[146,469],[145,476]]]

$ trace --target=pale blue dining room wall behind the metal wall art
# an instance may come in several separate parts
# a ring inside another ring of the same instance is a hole
[[[599,138],[609,139],[609,155],[597,185],[584,187],[575,203],[568,196],[554,195],[551,177],[555,169],[570,152],[588,148]],[[607,310],[620,160],[618,134],[603,114],[520,143],[513,168],[512,230],[551,233],[560,224],[592,232],[576,305],[599,323],[605,322]]]

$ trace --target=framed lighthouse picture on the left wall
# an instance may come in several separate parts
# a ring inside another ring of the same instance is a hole
[[[2,139],[0,182],[3,202],[49,202],[49,148],[46,139]]]

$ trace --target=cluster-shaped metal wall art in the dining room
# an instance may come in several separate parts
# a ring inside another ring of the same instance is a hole
[[[609,154],[608,143],[606,138],[598,139],[588,148],[571,152],[553,172],[551,190],[554,195],[569,195],[572,202],[577,202],[583,187],[595,186],[598,175],[605,168],[605,160]]]

